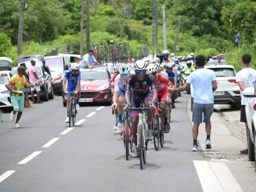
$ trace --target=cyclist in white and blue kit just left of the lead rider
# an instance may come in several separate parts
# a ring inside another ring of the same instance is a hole
[[[120,66],[119,74],[115,79],[113,104],[111,105],[111,108],[113,110],[117,108],[117,114],[118,114],[118,125],[116,130],[117,133],[122,133],[122,127],[123,127],[123,119],[122,119],[123,107],[117,106],[117,103],[120,105],[124,104],[124,100],[125,100],[124,95],[126,91],[126,79],[130,74],[131,74],[130,66],[122,65]]]

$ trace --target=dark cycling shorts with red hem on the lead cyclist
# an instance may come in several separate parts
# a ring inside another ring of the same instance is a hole
[[[135,108],[139,108],[141,101],[145,103],[147,99],[152,99],[152,94],[150,91],[148,91],[145,94],[136,94],[132,92],[132,99],[131,99],[131,105],[135,106]],[[130,116],[139,116],[139,111],[132,110],[130,112]]]

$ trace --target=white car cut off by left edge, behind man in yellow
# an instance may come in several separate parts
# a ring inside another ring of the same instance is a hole
[[[0,71],[7,74],[8,81],[12,77],[11,71]],[[5,87],[5,77],[0,77],[0,108],[12,108],[10,91]]]

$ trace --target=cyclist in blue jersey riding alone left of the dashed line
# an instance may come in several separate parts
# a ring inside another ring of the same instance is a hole
[[[71,63],[70,69],[67,70],[64,74],[64,77],[62,79],[62,87],[64,89],[64,92],[67,94],[67,119],[66,122],[69,122],[69,103],[70,103],[70,97],[71,94],[68,94],[68,92],[73,92],[76,94],[76,110],[79,110],[79,94],[80,93],[80,80],[81,80],[81,72],[80,72],[80,65],[76,62]],[[66,81],[67,88],[66,88]]]

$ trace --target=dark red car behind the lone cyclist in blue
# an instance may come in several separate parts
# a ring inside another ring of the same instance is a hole
[[[81,69],[80,103],[104,102],[110,105],[112,101],[111,74],[103,67]],[[67,105],[67,97],[63,94],[63,106]]]

